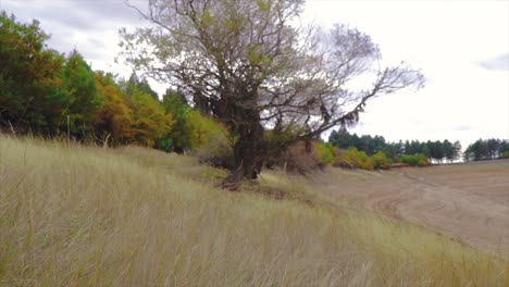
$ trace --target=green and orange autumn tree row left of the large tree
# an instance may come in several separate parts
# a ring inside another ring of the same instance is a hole
[[[183,152],[222,127],[175,90],[92,71],[76,50],[48,49],[39,23],[0,14],[0,129]]]

